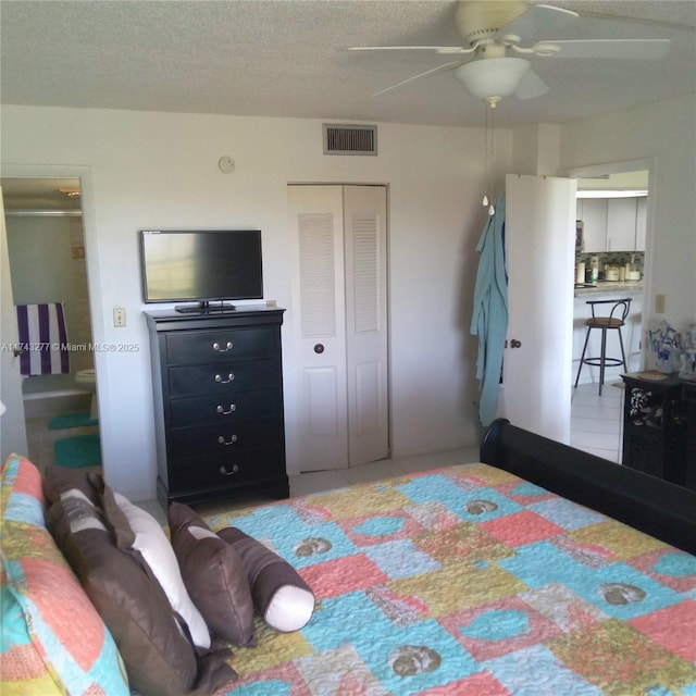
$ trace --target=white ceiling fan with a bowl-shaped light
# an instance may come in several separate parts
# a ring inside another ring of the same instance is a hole
[[[428,75],[455,71],[467,91],[492,108],[514,94],[532,99],[549,91],[530,58],[618,58],[654,60],[670,50],[669,39],[552,39],[572,25],[577,12],[522,0],[459,0],[456,22],[463,46],[356,46],[351,51],[430,51],[456,60],[386,87],[373,96]],[[621,17],[612,17],[621,18]]]

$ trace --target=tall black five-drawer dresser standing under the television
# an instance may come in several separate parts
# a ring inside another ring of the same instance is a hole
[[[278,308],[146,312],[159,499],[286,498]]]

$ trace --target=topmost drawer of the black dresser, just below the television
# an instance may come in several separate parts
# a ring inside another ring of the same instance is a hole
[[[170,365],[226,363],[266,358],[276,352],[272,327],[172,333],[166,336]]]

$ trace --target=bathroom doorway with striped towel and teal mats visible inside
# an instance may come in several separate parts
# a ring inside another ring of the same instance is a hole
[[[20,335],[28,350],[17,361],[28,457],[39,468],[101,467],[80,179],[1,181],[13,301],[32,318]],[[46,316],[65,340],[51,335],[50,360],[37,360]]]

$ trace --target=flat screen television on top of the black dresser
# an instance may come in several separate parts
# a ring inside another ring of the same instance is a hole
[[[140,258],[146,302],[191,302],[175,309],[200,312],[263,297],[260,229],[144,229]]]

